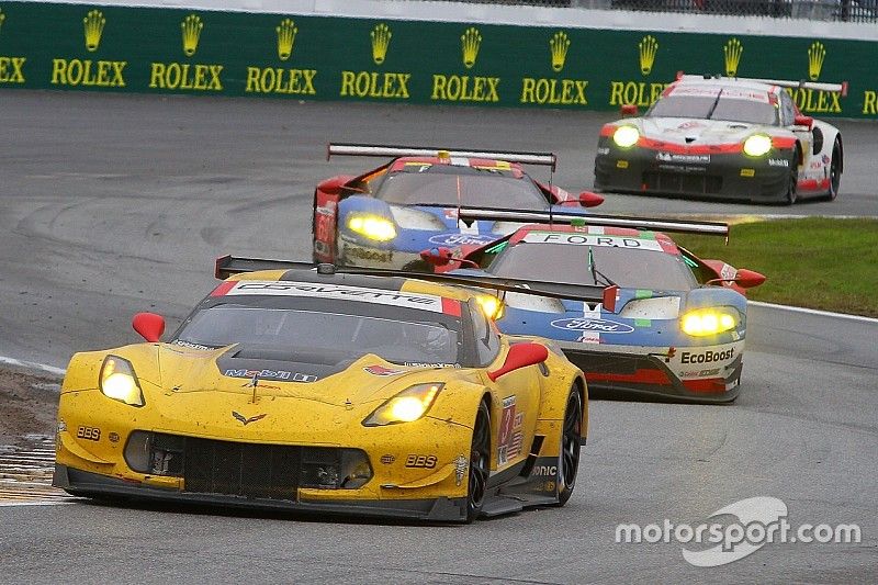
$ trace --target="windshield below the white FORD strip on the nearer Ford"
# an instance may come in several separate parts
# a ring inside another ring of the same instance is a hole
[[[589,248],[598,273],[589,267]],[[497,256],[488,272],[503,278],[606,285],[604,274],[622,288],[663,291],[696,286],[695,277],[678,256],[611,246],[519,243]]]

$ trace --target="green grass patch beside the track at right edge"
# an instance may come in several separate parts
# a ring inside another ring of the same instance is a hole
[[[750,268],[768,280],[753,301],[878,317],[878,220],[772,220],[716,236],[674,235],[701,258]]]

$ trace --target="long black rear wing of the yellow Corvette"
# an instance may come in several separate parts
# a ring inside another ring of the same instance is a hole
[[[498,292],[515,292],[548,296],[550,299],[566,299],[570,301],[584,301],[589,303],[603,302],[604,306],[612,307],[616,304],[618,286],[564,284],[542,282],[524,279],[503,279],[494,277],[477,277],[470,274],[434,274],[430,272],[410,272],[406,270],[385,270],[381,268],[353,268],[336,267],[334,265],[315,265],[294,260],[266,260],[260,258],[238,258],[223,256],[216,259],[214,275],[225,280],[233,274],[255,272],[257,270],[316,270],[318,274],[362,274],[368,277],[397,277],[414,280],[425,280],[439,284],[453,286],[469,286],[488,289]],[[611,311],[611,308],[610,308]]]

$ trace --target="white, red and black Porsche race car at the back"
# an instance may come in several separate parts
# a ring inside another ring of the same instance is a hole
[[[801,115],[791,88],[833,99],[846,92],[846,85],[680,76],[643,116],[604,125],[595,188],[785,204],[834,200],[844,170],[841,133]]]

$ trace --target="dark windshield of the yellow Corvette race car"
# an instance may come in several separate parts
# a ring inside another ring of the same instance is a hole
[[[367,353],[396,363],[459,361],[458,334],[441,323],[238,304],[199,311],[184,324],[176,342],[210,348],[232,344],[263,347],[275,355],[288,355],[290,361],[314,353],[335,361]]]

